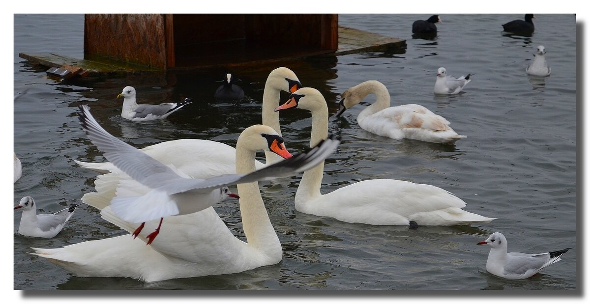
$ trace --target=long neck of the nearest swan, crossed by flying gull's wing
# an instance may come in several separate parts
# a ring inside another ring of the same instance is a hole
[[[256,170],[255,151],[242,147],[239,139],[235,149],[236,173],[246,174]],[[240,195],[242,225],[248,246],[253,246],[269,256],[281,255],[281,243],[274,231],[273,224],[268,219],[258,182],[238,184],[238,194]]]

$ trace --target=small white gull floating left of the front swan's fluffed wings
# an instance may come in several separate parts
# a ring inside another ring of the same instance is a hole
[[[18,233],[24,236],[44,237],[51,239],[60,233],[65,223],[68,222],[78,204],[62,209],[52,214],[37,214],[35,200],[25,196],[14,210],[22,209],[21,223],[18,226]]]

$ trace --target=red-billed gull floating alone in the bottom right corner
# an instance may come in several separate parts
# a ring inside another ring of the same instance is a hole
[[[563,253],[571,249],[566,248],[536,255],[520,252],[507,253],[508,242],[504,234],[499,232],[492,233],[487,240],[477,244],[488,244],[491,247],[490,255],[487,257],[486,270],[492,275],[512,280],[526,279],[535,275],[541,269],[559,262]]]

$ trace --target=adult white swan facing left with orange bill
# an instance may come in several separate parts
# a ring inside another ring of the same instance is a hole
[[[328,108],[319,91],[301,88],[277,111],[294,107],[312,112],[312,146],[326,138]],[[425,226],[451,226],[494,220],[462,210],[466,203],[453,193],[409,181],[364,180],[321,194],[323,170],[321,163],[303,173],[295,195],[297,211],[375,225],[408,225],[412,221]]]

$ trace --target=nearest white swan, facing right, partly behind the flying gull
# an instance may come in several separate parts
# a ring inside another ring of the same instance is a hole
[[[265,125],[255,125],[242,132],[236,146],[237,173],[255,170],[255,151],[269,148],[263,134],[278,136]],[[319,150],[306,153],[304,164],[287,170],[300,171],[315,166],[335,150],[337,143],[326,141]],[[213,207],[208,207],[201,212],[166,217],[151,246],[146,246],[145,233],[137,239],[126,234],[55,249],[33,248],[33,254],[76,276],[132,277],[147,282],[237,273],[280,262],[281,243],[268,219],[258,183],[238,184],[238,193],[247,242],[237,239]],[[110,206],[104,207],[101,216],[133,231],[132,225],[114,216]],[[146,223],[146,228],[152,230],[157,225],[158,221],[151,221]]]

